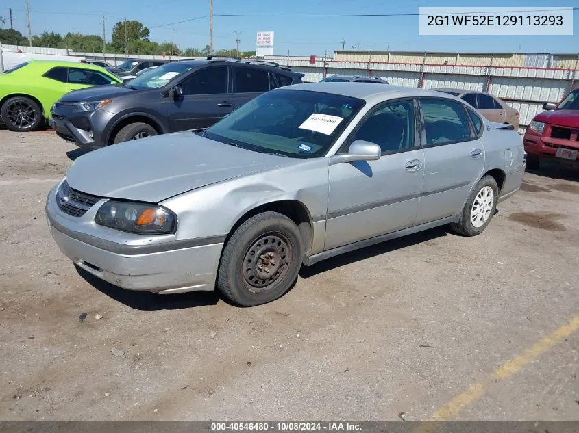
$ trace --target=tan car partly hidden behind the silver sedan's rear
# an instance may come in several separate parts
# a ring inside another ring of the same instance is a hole
[[[480,113],[491,122],[509,123],[519,129],[519,111],[507,105],[497,97],[476,90],[465,89],[431,89],[437,92],[445,92],[457,96],[463,101],[478,109]]]

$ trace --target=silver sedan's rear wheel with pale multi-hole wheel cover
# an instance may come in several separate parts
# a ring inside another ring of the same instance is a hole
[[[476,236],[493,219],[499,187],[492,176],[484,176],[471,192],[458,222],[450,224],[453,231],[464,236]]]

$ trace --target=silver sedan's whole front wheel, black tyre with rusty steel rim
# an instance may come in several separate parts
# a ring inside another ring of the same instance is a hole
[[[217,289],[242,306],[271,302],[295,282],[303,251],[292,220],[278,212],[259,213],[243,222],[225,244]]]

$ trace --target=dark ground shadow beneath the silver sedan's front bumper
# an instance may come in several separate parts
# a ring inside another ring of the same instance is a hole
[[[160,311],[190,309],[197,306],[215,305],[222,299],[218,291],[192,291],[172,295],[158,295],[149,291],[121,289],[121,287],[97,278],[77,265],[75,265],[75,268],[79,276],[88,284],[95,287],[95,289],[135,310]],[[230,303],[225,299],[223,299],[223,301]]]

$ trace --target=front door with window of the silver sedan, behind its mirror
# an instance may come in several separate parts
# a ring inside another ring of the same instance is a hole
[[[325,250],[408,228],[415,222],[424,156],[419,146],[415,101],[373,108],[347,140],[379,144],[377,161],[330,166]]]

